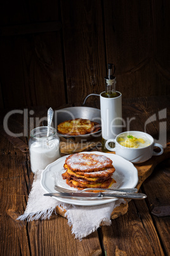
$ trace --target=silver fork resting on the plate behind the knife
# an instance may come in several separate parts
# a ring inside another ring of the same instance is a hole
[[[133,192],[138,192],[138,189],[137,188],[84,188],[83,190],[79,191],[79,190],[70,190],[70,189],[67,189],[67,188],[62,188],[62,187],[59,187],[57,185],[55,185],[55,190],[58,191],[58,192],[61,192],[61,193],[64,193],[64,192],[67,192],[67,193],[72,193],[72,192],[86,192],[88,190],[104,190],[104,191],[110,191],[110,192],[121,192],[121,193],[126,193],[126,192],[129,192],[129,193],[133,193]]]

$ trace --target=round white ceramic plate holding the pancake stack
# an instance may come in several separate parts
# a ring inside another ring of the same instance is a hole
[[[96,153],[98,155],[105,155],[113,161],[115,167],[115,172],[112,175],[112,178],[116,181],[111,188],[134,188],[138,183],[138,171],[134,165],[128,160],[123,159],[119,155],[114,155],[112,153],[103,153],[103,152],[81,152],[81,153]],[[58,185],[63,188],[70,190],[76,190],[75,188],[70,187],[66,184],[66,181],[62,178],[62,173],[65,172],[63,164],[65,159],[68,157],[61,157],[55,162],[49,164],[46,169],[41,174],[41,187],[47,193],[56,192],[54,189],[55,185]],[[117,199],[79,199],[79,198],[64,198],[64,197],[53,197],[54,199],[61,201],[67,204],[75,204],[80,206],[94,206],[99,204],[106,204],[113,202]]]

